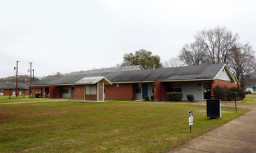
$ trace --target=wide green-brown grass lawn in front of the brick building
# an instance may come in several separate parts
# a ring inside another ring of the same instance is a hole
[[[188,111],[194,112],[193,133]],[[0,106],[0,152],[167,152],[246,113],[223,107],[73,101]]]

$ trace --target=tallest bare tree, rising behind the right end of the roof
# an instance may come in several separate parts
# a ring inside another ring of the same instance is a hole
[[[181,49],[179,59],[187,65],[228,64],[228,58],[232,55],[232,47],[237,44],[238,40],[238,33],[233,34],[225,27],[205,29],[197,32],[195,42]]]

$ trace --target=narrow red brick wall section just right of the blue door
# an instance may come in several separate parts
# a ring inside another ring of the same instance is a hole
[[[165,101],[166,100],[166,89],[165,83],[160,81],[154,82],[154,100],[155,101]]]

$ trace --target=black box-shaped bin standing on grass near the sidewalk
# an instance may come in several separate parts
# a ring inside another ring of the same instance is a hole
[[[206,108],[208,118],[221,118],[220,99],[207,99]]]

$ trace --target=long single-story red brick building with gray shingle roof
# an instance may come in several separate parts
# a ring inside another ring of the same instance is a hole
[[[94,72],[72,72],[63,77],[45,78],[30,84],[32,96],[46,92],[50,98],[75,98],[102,102],[104,99],[165,100],[167,92],[193,94],[195,100],[209,99],[215,86],[237,87],[224,63],[143,70],[142,67],[118,67]]]

